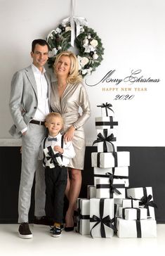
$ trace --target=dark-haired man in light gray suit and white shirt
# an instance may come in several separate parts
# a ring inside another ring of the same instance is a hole
[[[44,65],[48,60],[48,44],[43,39],[32,41],[33,63],[13,75],[11,82],[10,110],[14,125],[9,131],[15,137],[22,137],[22,167],[18,198],[19,236],[32,238],[28,214],[32,184],[35,174],[34,215],[41,221],[45,216],[44,167],[38,160],[39,146],[46,134],[44,120],[49,111],[51,84]],[[42,217],[42,218],[41,218]]]

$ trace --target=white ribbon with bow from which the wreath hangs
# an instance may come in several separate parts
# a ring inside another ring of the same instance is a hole
[[[74,16],[74,6],[75,1],[72,0],[72,15],[68,18],[65,18],[62,20],[62,25],[65,25],[66,23],[70,22],[71,27],[71,41],[70,44],[74,47],[74,40],[78,35],[80,34],[81,26],[87,26],[87,20],[84,17],[76,17]],[[76,33],[75,33],[76,31]],[[76,35],[75,35],[76,34]]]

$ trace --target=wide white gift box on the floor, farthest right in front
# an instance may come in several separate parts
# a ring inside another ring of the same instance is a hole
[[[154,238],[157,237],[157,223],[154,219],[117,218],[117,236],[119,238]]]

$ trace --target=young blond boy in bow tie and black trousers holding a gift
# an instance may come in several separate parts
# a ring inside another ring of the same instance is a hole
[[[49,113],[45,122],[48,136],[42,141],[39,159],[43,159],[46,181],[46,216],[53,219],[53,237],[61,235],[63,200],[67,186],[67,165],[75,152],[72,142],[65,143],[60,130],[63,127],[59,113]]]

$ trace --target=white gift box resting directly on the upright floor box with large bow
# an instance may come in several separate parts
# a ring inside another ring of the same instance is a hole
[[[110,179],[96,179],[96,198],[125,198],[126,189],[125,183],[122,179],[113,179],[114,188],[117,188],[117,191],[110,189]]]

